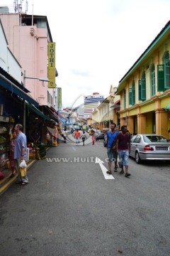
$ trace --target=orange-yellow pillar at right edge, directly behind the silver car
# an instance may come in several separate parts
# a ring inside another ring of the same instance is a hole
[[[155,110],[156,134],[162,134],[166,138],[168,133],[168,113],[164,109]]]

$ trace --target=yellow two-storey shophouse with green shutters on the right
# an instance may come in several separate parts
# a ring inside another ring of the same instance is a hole
[[[118,85],[120,125],[132,134],[170,132],[170,21]]]

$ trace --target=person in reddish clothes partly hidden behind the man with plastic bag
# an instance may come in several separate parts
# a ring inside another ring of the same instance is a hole
[[[10,161],[10,166],[11,166],[11,176],[10,178],[13,178],[15,175],[15,171],[16,171],[16,160],[14,159],[14,149],[15,149],[15,145],[16,145],[16,131],[12,131],[12,139],[10,142],[10,150],[9,150],[9,161]]]

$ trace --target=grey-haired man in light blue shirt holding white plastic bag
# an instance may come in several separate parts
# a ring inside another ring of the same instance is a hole
[[[27,159],[27,139],[26,135],[23,134],[22,129],[22,124],[16,124],[15,131],[17,138],[13,159],[16,159],[16,171],[18,173],[18,181],[16,181],[16,184],[26,185],[28,184],[28,177],[27,175],[21,176],[20,172],[21,161]]]

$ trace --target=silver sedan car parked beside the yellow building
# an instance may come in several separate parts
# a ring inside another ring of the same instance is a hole
[[[170,142],[163,135],[137,134],[131,139],[130,156],[142,160],[170,160]]]

